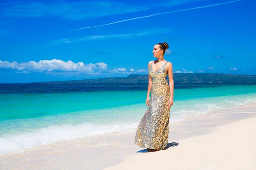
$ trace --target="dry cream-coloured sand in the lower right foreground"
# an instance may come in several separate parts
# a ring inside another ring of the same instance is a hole
[[[255,170],[256,118],[215,127],[215,132],[136,153],[104,170]]]

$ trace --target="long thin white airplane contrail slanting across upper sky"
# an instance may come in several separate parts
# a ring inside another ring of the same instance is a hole
[[[233,1],[228,1],[228,2],[225,2],[225,3],[215,3],[215,4],[212,4],[212,5],[199,6],[199,7],[188,8],[188,9],[181,9],[181,10],[177,10],[177,11],[162,12],[162,13],[143,16],[143,17],[135,17],[135,18],[127,19],[127,20],[116,21],[116,22],[113,22],[113,23],[103,24],[103,25],[99,25],[99,26],[91,26],[91,27],[73,29],[73,30],[70,30],[70,31],[76,31],[76,30],[88,29],[88,28],[95,28],[95,27],[100,27],[100,26],[108,26],[108,25],[111,25],[111,24],[122,23],[122,22],[130,21],[130,20],[137,20],[137,19],[141,19],[141,18],[153,17],[155,15],[160,15],[160,14],[169,14],[169,13],[180,12],[180,11],[189,11],[189,10],[193,10],[193,9],[207,8],[207,7],[223,5],[223,4],[227,4],[227,3],[235,3],[235,2],[238,2],[238,1],[241,1],[241,0],[233,0]]]

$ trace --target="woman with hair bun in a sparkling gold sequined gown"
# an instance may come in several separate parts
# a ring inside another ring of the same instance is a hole
[[[168,143],[170,107],[173,105],[174,91],[172,63],[164,59],[168,48],[166,42],[154,45],[153,54],[157,59],[148,62],[148,110],[140,121],[135,137],[135,145],[148,150],[163,150]],[[166,81],[167,74],[169,85]]]

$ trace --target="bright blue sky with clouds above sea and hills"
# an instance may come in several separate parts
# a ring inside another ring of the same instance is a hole
[[[2,0],[0,83],[147,74],[165,41],[174,72],[255,75],[255,16],[254,0]]]

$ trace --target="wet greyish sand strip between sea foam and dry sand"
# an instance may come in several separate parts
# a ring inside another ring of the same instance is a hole
[[[256,117],[256,105],[245,105],[207,114],[190,116],[170,124],[169,143],[210,134],[212,128]],[[0,156],[0,169],[90,169],[99,170],[119,164],[143,148],[134,145],[134,130],[90,136]],[[145,150],[143,151],[145,152]],[[95,160],[96,159],[96,160]],[[15,164],[12,164],[15,162]]]

